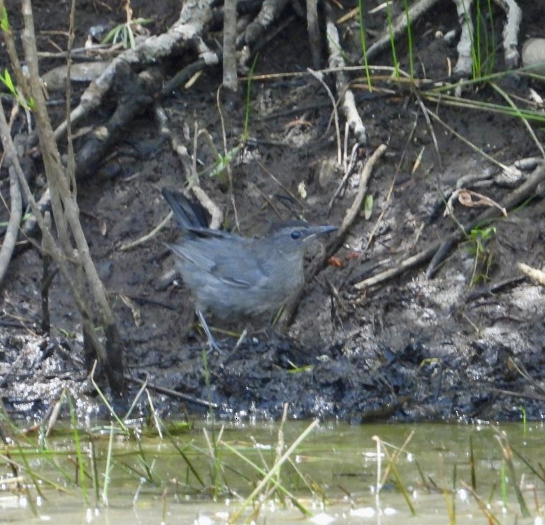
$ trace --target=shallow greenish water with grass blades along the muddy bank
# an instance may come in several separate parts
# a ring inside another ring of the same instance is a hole
[[[285,424],[281,453],[308,425],[308,422]],[[509,469],[503,459],[498,430],[505,433],[511,450],[523,456],[529,466],[514,454],[514,470]],[[31,476],[24,473],[24,468],[18,469],[24,484],[29,487],[25,495],[9,482],[13,473],[2,465],[0,523],[26,523],[36,519],[58,525],[74,522],[115,525],[227,523],[228,516],[241,508],[242,501],[264,475],[263,472],[256,473],[255,468],[233,450],[263,471],[268,470],[277,454],[279,426],[273,423],[227,424],[221,443],[216,447],[217,462],[205,454],[209,450],[205,431],[208,440],[214,440],[218,438],[220,427],[195,422],[191,431],[172,440],[157,435],[140,436],[138,440],[117,436],[112,441],[109,470],[108,430],[103,431],[101,438],[97,438],[100,433],[94,431],[92,454],[88,438],[80,436],[86,496],[81,477],[76,477],[77,447],[72,433],[42,441],[48,450],[42,454],[17,439],[27,452],[23,459],[22,454],[12,448],[13,461],[21,464],[28,461],[32,472],[47,481],[38,482],[43,495],[38,496],[32,487]],[[374,436],[389,444],[382,444],[379,454]],[[405,451],[392,461],[396,473],[390,471],[377,495],[377,475],[384,475],[388,456],[398,453],[409,436],[412,438]],[[36,447],[41,446],[37,438],[34,442]],[[545,427],[541,423],[530,424],[526,431],[522,424],[349,426],[321,423],[291,454],[292,463],[284,463],[279,473],[279,482],[297,497],[312,517],[303,517],[289,497],[281,498],[275,493],[256,510],[254,522],[285,524],[296,520],[309,524],[390,525],[405,524],[411,519],[415,524],[449,524],[450,512],[456,524],[486,524],[494,519],[502,524],[541,523],[539,513],[545,505],[545,490],[544,482],[539,479],[539,476],[544,477],[539,462],[544,444]],[[175,447],[191,462],[204,486],[189,471]],[[470,488],[471,454],[475,466],[474,496]],[[91,455],[95,469],[89,459]],[[105,489],[108,471],[110,480]],[[215,472],[219,474],[214,475]],[[98,480],[96,491],[93,478]],[[503,486],[502,479],[507,482]],[[48,482],[59,486],[48,487]],[[521,517],[515,483],[522,487],[530,512],[528,518]],[[213,496],[215,486],[217,496]],[[409,503],[401,486],[405,487]],[[231,494],[226,494],[227,489]],[[415,518],[412,518],[409,505],[414,508]],[[238,522],[242,523],[249,514],[250,509],[242,512]]]

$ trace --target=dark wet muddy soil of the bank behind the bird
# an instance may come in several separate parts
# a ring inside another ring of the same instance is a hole
[[[15,2],[6,2],[14,13]],[[545,11],[539,2],[519,0],[523,10],[521,41],[540,34]],[[176,4],[176,5],[175,5]],[[135,17],[150,17],[154,34],[165,31],[177,19],[177,3],[168,0],[131,2]],[[34,2],[38,48],[55,51],[66,47],[69,3]],[[238,224],[244,235],[258,235],[270,222],[304,218],[313,224],[340,224],[356,194],[365,159],[380,144],[386,154],[375,166],[368,186],[372,196],[370,215],[358,215],[336,259],[310,280],[289,331],[279,334],[270,319],[252,319],[212,326],[229,329],[217,333],[221,352],[212,352],[203,365],[205,337],[198,329],[191,297],[182,283],[167,277],[173,257],[165,243],[178,236],[176,226],[166,227],[131,250],[121,250],[154,229],[168,213],[161,188],[182,188],[186,182],[180,159],[159,135],[152,110],[140,115],[95,173],[80,183],[78,203],[82,224],[112,301],[126,345],[126,373],[145,380],[156,408],[163,417],[207,412],[205,406],[179,401],[154,390],[160,386],[215,403],[220,417],[278,417],[289,403],[291,417],[342,418],[351,422],[498,420],[544,417],[545,292],[523,278],[517,263],[541,268],[545,257],[545,206],[539,192],[525,206],[509,210],[507,217],[484,224],[493,226],[488,238],[468,235],[449,252],[433,278],[420,266],[358,291],[354,287],[370,275],[397,266],[437,240],[469,224],[483,208],[453,204],[453,216],[444,216],[444,196],[463,175],[484,173],[494,165],[437,122],[426,122],[419,99],[396,82],[387,94],[367,94],[361,72],[351,73],[356,106],[367,127],[368,144],[360,145],[356,169],[340,196],[328,209],[340,182],[334,166],[335,127],[324,87],[310,75],[272,76],[300,72],[312,66],[305,21],[286,8],[288,21],[261,50],[252,81],[249,141],[233,163],[232,194],[225,192],[208,173],[201,186],[225,210],[225,226]],[[502,33],[503,17],[493,9],[495,35]],[[344,11],[343,11],[344,12]],[[341,14],[341,13],[340,13]],[[384,11],[369,14],[369,38],[385,23]],[[97,24],[124,21],[121,2],[77,3],[75,46],[83,45],[87,32]],[[447,61],[456,62],[456,45],[439,34],[457,29],[453,4],[443,0],[412,27],[416,75],[444,79]],[[361,47],[356,21],[340,25],[347,59],[357,59]],[[53,32],[52,32],[53,31]],[[208,40],[212,42],[209,35]],[[402,69],[409,67],[405,38],[398,41]],[[495,55],[495,69],[502,71],[502,56]],[[163,64],[169,75],[191,62],[176,57]],[[391,65],[391,50],[373,64]],[[43,61],[44,71],[61,64]],[[259,75],[270,78],[261,79]],[[356,82],[356,79],[359,80]],[[335,80],[326,76],[333,87]],[[543,84],[511,75],[502,78],[511,94],[528,96],[530,87],[544,92]],[[534,83],[535,82],[535,83]],[[194,129],[206,129],[216,148],[223,150],[222,121],[217,106],[219,68],[211,67],[187,89],[163,101],[173,134],[193,148]],[[224,127],[229,148],[238,145],[245,118],[245,84],[240,96],[226,101]],[[76,94],[83,87],[75,87]],[[481,83],[465,96],[491,103],[504,99]],[[51,99],[54,124],[63,120],[62,93]],[[77,103],[77,99],[74,100]],[[513,164],[517,159],[539,156],[521,120],[500,113],[481,112],[423,101],[439,114],[456,134],[476,145],[496,161]],[[94,115],[106,119],[112,108]],[[96,122],[94,122],[96,124]],[[343,120],[341,128],[344,127]],[[544,133],[532,124],[537,140]],[[434,145],[433,129],[437,150]],[[80,148],[85,136],[78,139]],[[349,136],[349,150],[354,137]],[[198,143],[198,162],[205,168],[215,161],[211,148]],[[36,194],[43,191],[43,168],[36,164]],[[495,171],[492,170],[494,174]],[[514,191],[492,177],[486,187],[474,188],[500,202]],[[300,193],[305,188],[306,196]],[[1,172],[1,192],[9,196],[7,171]],[[234,205],[234,206],[233,206]],[[0,220],[6,220],[2,210]],[[370,243],[368,244],[368,241]],[[478,256],[476,251],[479,249]],[[316,245],[312,257],[320,257]],[[26,241],[10,264],[0,289],[0,392],[12,415],[39,419],[50,410],[63,389],[78,400],[82,415],[105,415],[89,384],[82,359],[81,324],[77,310],[60,275],[50,289],[52,330],[40,333],[42,261],[38,250]],[[477,275],[481,274],[481,279]],[[333,291],[335,293],[333,293]],[[128,301],[129,299],[130,301]],[[235,347],[240,331],[248,335]],[[100,379],[99,379],[100,382]],[[106,389],[106,384],[101,382]],[[140,389],[127,382],[124,400],[130,405]],[[148,400],[140,396],[138,409]]]

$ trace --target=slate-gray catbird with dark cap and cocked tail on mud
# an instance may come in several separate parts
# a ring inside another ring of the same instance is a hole
[[[208,228],[208,216],[179,192],[163,188],[182,238],[168,247],[196,299],[196,312],[210,346],[217,347],[203,313],[221,319],[275,310],[303,286],[303,256],[310,241],[335,226],[304,221],[279,224],[267,236],[242,237]]]

